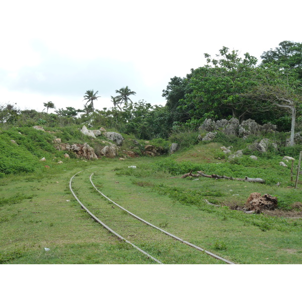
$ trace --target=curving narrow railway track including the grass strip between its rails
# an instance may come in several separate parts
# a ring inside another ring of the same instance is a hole
[[[82,208],[84,208],[94,220],[101,223],[120,240],[132,245],[133,248],[138,249],[147,257],[157,263],[234,264],[229,260],[190,244],[122,208],[96,188],[92,182],[93,174],[89,178],[89,175],[86,175],[86,171],[87,170],[81,171],[82,173],[78,172],[70,179],[69,187],[75,199],[77,199]],[[77,176],[77,178],[75,178],[77,181],[73,180],[75,176]],[[77,187],[78,196],[75,195],[72,190],[72,180],[73,186]],[[91,184],[95,189],[91,187]],[[107,200],[101,200],[100,202],[99,193]],[[82,201],[80,201],[80,199]],[[86,206],[84,204],[86,204]],[[184,254],[186,255],[185,258],[183,256]]]

